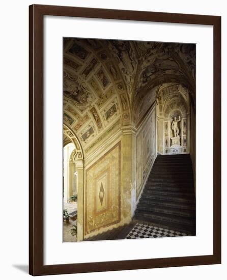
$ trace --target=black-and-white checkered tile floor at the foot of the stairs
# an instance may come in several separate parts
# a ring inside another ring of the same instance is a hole
[[[136,223],[125,239],[187,236],[186,233]]]

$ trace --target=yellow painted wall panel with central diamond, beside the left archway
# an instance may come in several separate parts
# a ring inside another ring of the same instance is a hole
[[[112,147],[85,172],[85,229],[89,234],[120,222],[121,144]]]

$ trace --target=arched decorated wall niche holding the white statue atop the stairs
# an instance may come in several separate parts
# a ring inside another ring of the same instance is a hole
[[[159,154],[190,153],[190,102],[179,84],[162,85],[157,92]]]

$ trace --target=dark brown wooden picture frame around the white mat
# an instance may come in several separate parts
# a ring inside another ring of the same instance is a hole
[[[43,18],[44,15],[213,25],[213,255],[81,264],[43,264]],[[67,274],[221,263],[221,17],[192,14],[31,5],[29,273]]]

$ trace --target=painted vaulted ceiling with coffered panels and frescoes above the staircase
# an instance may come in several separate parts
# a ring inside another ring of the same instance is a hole
[[[195,45],[64,39],[64,124],[84,150],[117,123],[136,126],[167,82],[195,105]]]

